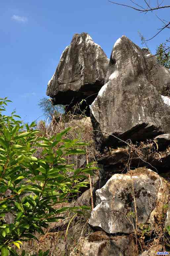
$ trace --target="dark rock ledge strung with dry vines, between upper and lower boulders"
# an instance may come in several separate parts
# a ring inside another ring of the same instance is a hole
[[[170,168],[170,147],[169,134],[162,134],[155,137],[153,140],[147,140],[145,143],[138,145],[124,146],[117,149],[110,149],[104,153],[97,153],[96,159],[99,164],[112,169],[115,172],[121,173],[123,170],[127,171],[127,167],[133,168],[149,166],[155,171],[168,172]],[[119,166],[119,171],[117,170]],[[111,170],[111,169],[110,169]],[[106,172],[106,171],[105,171]]]

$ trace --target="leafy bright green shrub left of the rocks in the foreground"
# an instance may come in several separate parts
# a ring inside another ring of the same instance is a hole
[[[15,115],[2,115],[7,98],[0,99],[0,250],[1,256],[18,255],[23,241],[37,239],[35,232],[44,233],[49,222],[63,218],[62,213],[82,214],[86,206],[54,207],[74,196],[87,177],[92,165],[74,170],[65,157],[86,152],[77,147],[87,145],[77,140],[63,139],[70,128],[50,139],[38,137],[35,122],[22,125]],[[57,146],[57,149],[56,149]],[[42,147],[42,158],[35,157],[36,147]],[[68,176],[67,173],[71,172]],[[7,215],[12,217],[9,221]]]

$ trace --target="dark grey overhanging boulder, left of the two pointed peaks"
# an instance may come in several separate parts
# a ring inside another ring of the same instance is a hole
[[[46,94],[54,104],[91,104],[104,84],[108,59],[87,33],[74,34],[48,83]],[[93,95],[95,94],[95,95]]]

